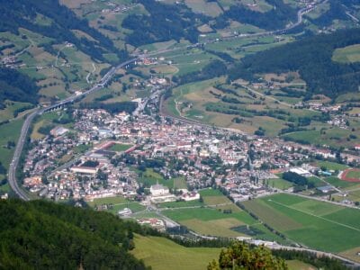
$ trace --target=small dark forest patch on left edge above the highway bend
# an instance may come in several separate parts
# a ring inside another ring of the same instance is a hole
[[[29,76],[11,68],[0,67],[0,109],[4,100],[37,103],[39,86]]]

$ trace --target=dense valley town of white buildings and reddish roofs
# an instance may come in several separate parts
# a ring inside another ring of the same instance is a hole
[[[158,97],[145,104],[155,110],[154,102]],[[304,179],[340,174],[311,165],[315,157],[337,158],[327,148],[270,140],[156,113],[111,114],[101,109],[67,113],[75,121],[73,130],[58,125],[45,139],[33,142],[23,167],[23,185],[31,193],[55,201],[92,202],[121,196],[151,207],[161,202],[199,200],[199,190],[213,187],[233,202],[241,202],[284,192],[275,186],[274,179],[286,172]],[[359,157],[348,154],[338,158],[360,162]],[[163,183],[143,181],[151,173],[161,175]],[[180,184],[175,185],[175,179]],[[171,180],[174,184],[169,187],[166,181]],[[311,187],[311,183],[302,183],[286,192]],[[329,193],[338,192],[336,186],[324,182],[310,194],[329,200]],[[340,203],[356,206],[347,199]],[[127,216],[131,211],[125,208],[118,214]],[[158,225],[160,221],[154,222]]]

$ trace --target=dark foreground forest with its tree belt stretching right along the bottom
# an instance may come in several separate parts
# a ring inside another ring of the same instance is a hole
[[[0,201],[0,268],[148,269],[129,253],[135,247],[134,234],[170,238],[111,213],[89,209],[85,203],[83,207],[72,204],[43,200]],[[270,252],[264,247],[252,247],[225,238],[174,240],[184,247],[228,247],[208,269],[228,268],[232,264],[230,257],[236,259],[237,266],[253,266],[264,260],[266,266],[286,269],[284,259],[298,259],[325,269],[347,269],[337,259],[316,257],[308,252]]]

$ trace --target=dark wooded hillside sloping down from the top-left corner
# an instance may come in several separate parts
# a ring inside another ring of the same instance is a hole
[[[19,28],[24,28],[52,38],[56,43],[71,42],[85,54],[100,60],[104,60],[106,50],[116,53],[112,40],[91,28],[87,21],[79,19],[57,0],[1,1],[0,12],[3,14],[0,31],[17,34]],[[72,30],[83,31],[94,40],[78,38]],[[51,50],[49,46],[45,48]]]

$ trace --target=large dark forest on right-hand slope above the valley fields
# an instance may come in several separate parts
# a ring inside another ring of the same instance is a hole
[[[332,61],[335,49],[360,43],[360,29],[340,30],[296,40],[242,58],[229,71],[229,80],[256,80],[257,74],[298,71],[311,94],[339,94],[358,91],[360,63]],[[309,94],[308,94],[309,95]]]

